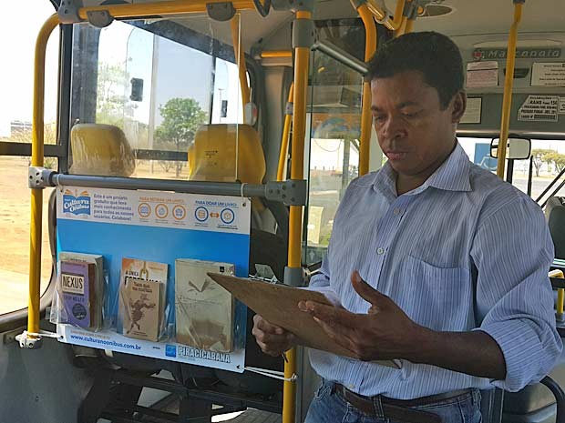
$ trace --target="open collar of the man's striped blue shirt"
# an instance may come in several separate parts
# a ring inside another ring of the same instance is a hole
[[[410,194],[418,194],[428,186],[445,191],[470,191],[469,164],[467,153],[457,142],[446,161],[437,167],[436,171],[427,178],[422,186],[418,186]],[[373,187],[384,194],[396,196],[396,174],[388,162],[376,173]]]

